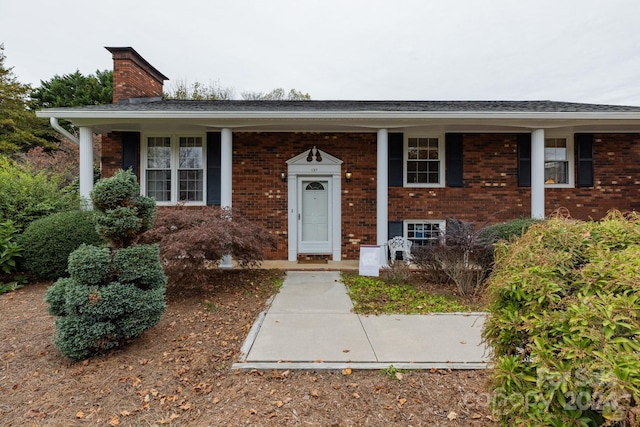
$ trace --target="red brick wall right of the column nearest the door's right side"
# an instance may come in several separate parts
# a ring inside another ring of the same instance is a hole
[[[464,135],[464,187],[389,189],[389,220],[447,219],[493,223],[531,215],[531,189],[518,187],[517,139]],[[600,219],[607,211],[640,209],[640,135],[594,136],[594,187],[546,188],[545,215]]]

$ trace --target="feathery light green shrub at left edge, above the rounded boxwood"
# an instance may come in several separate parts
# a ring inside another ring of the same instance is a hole
[[[24,230],[36,219],[78,209],[80,198],[64,187],[64,176],[36,172],[0,156],[0,221]]]

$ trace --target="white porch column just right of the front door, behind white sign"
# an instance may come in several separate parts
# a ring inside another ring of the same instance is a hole
[[[389,240],[389,132],[387,129],[378,129],[378,165],[376,196],[376,230],[377,245],[382,248],[380,261],[386,265],[387,240]]]

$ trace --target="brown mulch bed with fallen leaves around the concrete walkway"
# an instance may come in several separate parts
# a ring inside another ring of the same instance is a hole
[[[170,289],[159,325],[83,362],[51,343],[51,283],[0,295],[0,424],[496,425],[487,371],[232,370],[281,275],[213,271],[206,288]]]

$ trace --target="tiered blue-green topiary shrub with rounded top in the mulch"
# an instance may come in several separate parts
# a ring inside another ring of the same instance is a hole
[[[97,229],[110,245],[81,245],[69,256],[70,277],[47,291],[56,316],[54,343],[66,357],[84,359],[117,347],[156,325],[166,308],[158,245],[129,246],[155,215],[155,203],[138,197],[138,190],[131,172],[100,182],[92,198]]]

